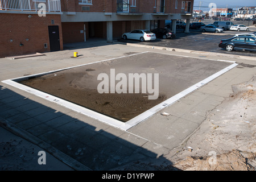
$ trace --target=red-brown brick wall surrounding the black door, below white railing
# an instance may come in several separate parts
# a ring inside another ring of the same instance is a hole
[[[0,57],[49,52],[48,26],[53,25],[59,26],[60,49],[63,50],[60,15],[40,17],[31,14],[31,18],[28,15],[0,13]],[[51,24],[52,19],[55,24]],[[19,46],[20,42],[23,46]],[[44,48],[44,43],[47,43],[47,48]]]

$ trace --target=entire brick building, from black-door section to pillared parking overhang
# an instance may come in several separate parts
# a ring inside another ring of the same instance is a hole
[[[186,19],[188,32],[192,12],[193,0],[0,0],[0,57],[62,50],[93,37],[112,42],[133,29],[164,27],[167,19],[174,31],[176,19]]]

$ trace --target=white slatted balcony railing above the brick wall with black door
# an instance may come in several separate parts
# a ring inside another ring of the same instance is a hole
[[[60,0],[0,0],[0,10],[61,11]]]

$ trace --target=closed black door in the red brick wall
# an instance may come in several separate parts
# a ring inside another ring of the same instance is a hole
[[[60,51],[60,35],[59,26],[48,26],[49,30],[49,43],[52,51]]]

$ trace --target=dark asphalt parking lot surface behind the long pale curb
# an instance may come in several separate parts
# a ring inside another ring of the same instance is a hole
[[[233,21],[235,23],[244,23]],[[205,21],[205,24],[213,23],[213,21]],[[246,24],[245,24],[246,25]],[[184,33],[183,29],[177,29],[175,39],[156,39],[147,42],[139,42],[137,40],[118,39],[119,42],[134,43],[147,46],[160,46],[168,48],[189,49],[193,51],[207,51],[216,53],[226,53],[229,55],[256,56],[256,52],[250,51],[232,51],[228,52],[225,49],[218,47],[221,40],[232,38],[235,34],[243,34],[255,32],[256,27],[250,26],[250,31],[224,31],[220,33],[206,32],[201,30],[189,30],[189,33]]]

